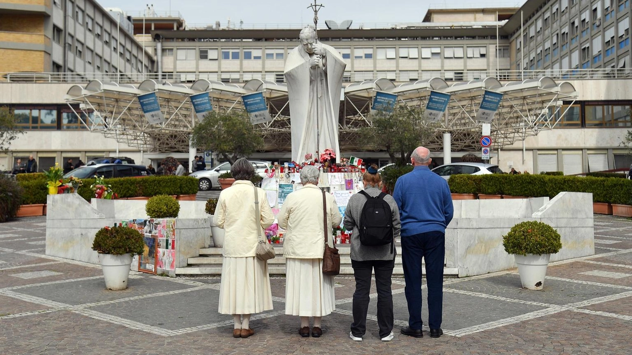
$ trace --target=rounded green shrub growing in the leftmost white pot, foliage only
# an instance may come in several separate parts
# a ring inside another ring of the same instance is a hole
[[[104,227],[94,236],[92,250],[99,254],[140,255],[145,243],[143,235],[131,227]]]

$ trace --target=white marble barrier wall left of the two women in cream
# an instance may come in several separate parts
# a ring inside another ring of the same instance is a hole
[[[104,226],[114,226],[121,220],[149,218],[145,212],[145,203],[97,198],[88,203],[73,193],[48,195],[46,255],[98,264],[99,254],[92,250],[96,232]],[[204,212],[205,202],[179,203],[179,215],[187,218],[176,220],[176,268],[186,267],[188,258],[198,256],[200,248],[207,248],[211,244],[210,216]]]

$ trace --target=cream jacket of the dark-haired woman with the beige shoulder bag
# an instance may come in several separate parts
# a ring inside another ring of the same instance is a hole
[[[255,217],[253,186],[250,181],[238,180],[219,194],[214,220],[217,227],[224,229],[222,254],[228,258],[255,256],[258,243],[256,226],[259,226],[262,238],[267,240],[264,229],[274,222],[265,191],[260,188],[257,188],[260,215]]]

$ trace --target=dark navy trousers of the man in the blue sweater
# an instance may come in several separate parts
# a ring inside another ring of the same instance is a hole
[[[428,327],[441,328],[443,312],[443,264],[446,256],[446,235],[434,231],[401,238],[401,258],[406,280],[408,325],[422,328],[422,256],[425,260],[428,286]]]

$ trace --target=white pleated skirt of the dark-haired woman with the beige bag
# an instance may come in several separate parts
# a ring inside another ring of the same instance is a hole
[[[267,310],[272,310],[268,263],[255,256],[224,257],[219,286],[219,313],[249,315]]]

